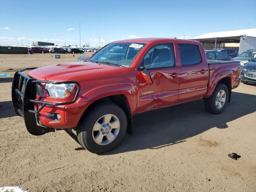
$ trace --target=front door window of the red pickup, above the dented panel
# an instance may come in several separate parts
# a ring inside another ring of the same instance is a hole
[[[172,44],[156,45],[144,56],[144,67],[146,67],[146,69],[173,66],[174,50]]]

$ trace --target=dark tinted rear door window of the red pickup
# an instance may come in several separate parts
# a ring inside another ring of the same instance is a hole
[[[192,65],[201,62],[201,54],[197,45],[179,44],[181,65]]]

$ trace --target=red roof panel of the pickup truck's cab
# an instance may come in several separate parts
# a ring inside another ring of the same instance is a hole
[[[119,40],[115,42],[133,42],[133,43],[149,43],[149,42],[159,42],[159,41],[173,41],[173,42],[196,42],[194,40],[186,40],[186,39],[176,39],[176,38],[136,38],[136,39],[126,39],[126,40]]]

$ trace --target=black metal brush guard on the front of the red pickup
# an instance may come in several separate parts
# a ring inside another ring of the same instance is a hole
[[[78,93],[80,91],[80,84],[76,81],[43,81],[35,80],[26,74],[23,74],[25,70],[33,70],[36,68],[25,68],[15,72],[12,81],[12,105],[14,111],[18,116],[24,118],[26,128],[32,135],[43,135],[48,132],[54,132],[54,128],[45,127],[41,124],[38,113],[46,106],[60,106],[66,104],[72,104],[76,101]],[[51,83],[51,84],[71,84],[74,83],[78,86],[75,97],[70,102],[52,103],[36,100],[37,89],[36,86],[40,83]],[[34,103],[42,104],[38,110],[34,110]],[[40,126],[41,124],[41,126]]]

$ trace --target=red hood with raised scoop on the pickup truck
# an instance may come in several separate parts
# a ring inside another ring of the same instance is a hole
[[[38,80],[67,81],[87,74],[96,74],[120,69],[122,69],[122,67],[93,62],[73,62],[37,68],[30,71],[28,75]]]

